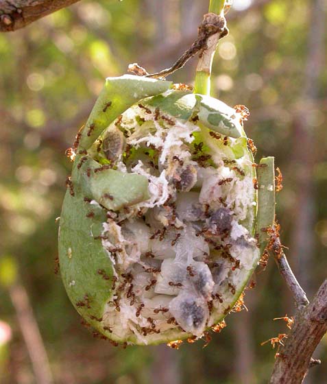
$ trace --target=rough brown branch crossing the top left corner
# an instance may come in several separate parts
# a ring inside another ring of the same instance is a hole
[[[79,0],[0,0],[0,32],[16,31]]]

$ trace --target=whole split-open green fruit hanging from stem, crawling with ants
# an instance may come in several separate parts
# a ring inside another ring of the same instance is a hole
[[[97,333],[175,345],[232,311],[274,223],[274,159],[254,166],[244,117],[171,82],[106,80],[70,151],[59,234],[64,286]]]

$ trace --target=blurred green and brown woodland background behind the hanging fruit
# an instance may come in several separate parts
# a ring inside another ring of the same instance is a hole
[[[208,1],[83,0],[0,34],[0,382],[5,384],[260,384],[295,312],[273,260],[258,268],[248,311],[204,341],[114,348],[80,324],[60,276],[56,217],[74,141],[104,84],[130,62],[169,67],[191,45]],[[327,1],[234,0],[219,43],[213,95],[245,104],[245,130],[284,175],[282,241],[309,298],[327,271]],[[193,59],[169,80],[192,84]],[[327,383],[322,365],[306,383]]]

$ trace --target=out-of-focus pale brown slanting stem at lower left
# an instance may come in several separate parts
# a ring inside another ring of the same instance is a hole
[[[16,310],[17,319],[32,366],[37,384],[53,383],[47,351],[43,344],[38,323],[33,314],[31,304],[27,292],[23,285],[16,283],[10,287],[10,298],[14,309]]]

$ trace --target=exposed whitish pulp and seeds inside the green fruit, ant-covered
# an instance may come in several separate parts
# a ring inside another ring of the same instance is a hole
[[[106,208],[99,238],[113,268],[99,326],[132,344],[202,337],[231,311],[259,259],[245,136],[136,104],[88,154],[102,169],[148,181],[142,202],[111,210],[110,193],[91,202]]]

